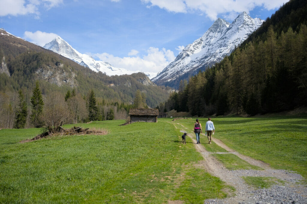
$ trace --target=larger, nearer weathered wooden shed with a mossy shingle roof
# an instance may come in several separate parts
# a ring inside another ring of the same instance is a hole
[[[130,122],[157,122],[159,110],[152,108],[130,108]]]

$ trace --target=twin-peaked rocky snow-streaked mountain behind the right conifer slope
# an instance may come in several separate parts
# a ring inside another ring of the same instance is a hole
[[[251,18],[246,12],[240,13],[231,24],[218,18],[202,37],[188,44],[152,81],[178,88],[181,79],[188,79],[199,70],[223,60],[263,22]]]

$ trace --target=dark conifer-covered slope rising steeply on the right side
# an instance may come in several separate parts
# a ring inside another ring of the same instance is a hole
[[[196,76],[165,107],[192,115],[278,112],[307,104],[307,2],[291,0],[230,56]]]

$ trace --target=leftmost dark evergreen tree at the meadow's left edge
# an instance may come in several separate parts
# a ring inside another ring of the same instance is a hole
[[[18,94],[19,103],[15,114],[14,128],[19,129],[24,128],[27,121],[27,103],[25,102],[25,98],[21,90],[19,90]]]

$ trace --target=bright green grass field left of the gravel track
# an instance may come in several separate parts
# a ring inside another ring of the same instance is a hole
[[[191,143],[180,143],[182,133],[170,121],[97,121],[79,125],[109,134],[27,143],[18,142],[41,130],[2,129],[0,203],[203,203],[225,197],[233,189],[194,165],[202,157]]]

